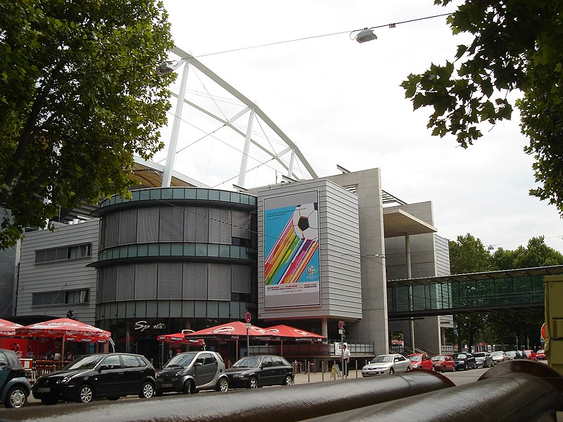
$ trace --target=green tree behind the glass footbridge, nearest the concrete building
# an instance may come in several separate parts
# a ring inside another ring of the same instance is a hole
[[[490,271],[491,254],[485,249],[483,243],[478,238],[474,238],[471,234],[465,236],[457,236],[457,241],[449,241],[450,245],[450,272],[452,274],[468,274],[472,272]],[[474,295],[469,293],[467,289],[474,289],[471,283],[467,286],[460,286],[460,298],[458,300],[461,305],[471,306],[469,303]],[[466,294],[468,293],[468,294]],[[476,299],[476,298],[474,298]],[[461,346],[463,340],[467,341],[467,346],[471,350],[474,345],[476,335],[479,335],[486,324],[486,319],[481,314],[457,314],[453,317],[454,328],[457,332],[457,343]]]

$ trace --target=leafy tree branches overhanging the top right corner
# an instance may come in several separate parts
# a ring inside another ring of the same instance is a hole
[[[434,0],[446,6],[451,0]],[[509,119],[510,91],[530,142],[536,181],[532,196],[549,200],[563,215],[563,1],[469,1],[448,17],[454,34],[474,36],[455,61],[409,75],[401,86],[415,110],[433,106],[432,134],[453,134],[464,148],[482,136],[481,123]]]

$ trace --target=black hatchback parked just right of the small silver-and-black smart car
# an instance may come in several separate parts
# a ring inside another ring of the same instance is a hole
[[[280,356],[250,356],[227,369],[231,388],[258,388],[293,384],[293,366]]]

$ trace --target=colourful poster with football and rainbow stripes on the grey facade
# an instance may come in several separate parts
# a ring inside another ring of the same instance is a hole
[[[264,200],[265,307],[320,305],[317,191]]]

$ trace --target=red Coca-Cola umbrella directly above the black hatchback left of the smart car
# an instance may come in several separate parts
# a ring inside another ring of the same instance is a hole
[[[51,319],[16,328],[15,334],[26,337],[62,338],[61,360],[65,354],[65,341],[106,343],[111,338],[109,331],[70,318]]]

